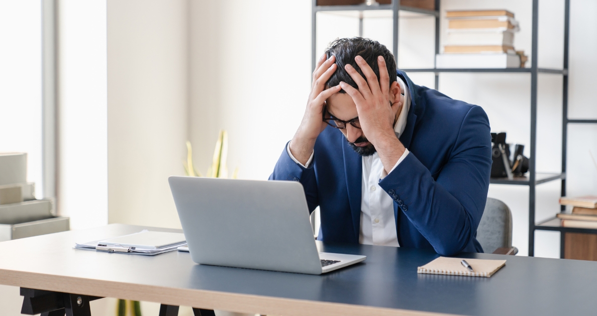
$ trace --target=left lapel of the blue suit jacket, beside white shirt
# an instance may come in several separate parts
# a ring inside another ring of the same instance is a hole
[[[344,136],[342,136],[344,138]],[[362,161],[361,156],[350,148],[346,140],[342,140],[342,151],[344,154],[344,173],[346,174],[346,188],[352,213],[352,224],[355,232],[355,241],[359,242],[359,231],[361,229],[361,185],[362,185]]]

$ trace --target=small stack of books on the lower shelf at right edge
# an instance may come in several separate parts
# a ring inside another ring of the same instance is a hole
[[[597,229],[597,196],[562,197],[560,204],[573,206],[572,213],[556,215],[562,220],[562,226]]]

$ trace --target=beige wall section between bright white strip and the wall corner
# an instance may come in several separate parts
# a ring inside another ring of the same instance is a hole
[[[168,176],[184,173],[187,1],[107,1],[110,223],[180,228]]]

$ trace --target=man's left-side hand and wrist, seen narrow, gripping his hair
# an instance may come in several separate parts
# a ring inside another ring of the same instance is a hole
[[[290,152],[303,165],[309,160],[319,133],[327,126],[322,120],[325,100],[340,91],[340,85],[324,90],[325,82],[336,71],[335,62],[336,56],[331,56],[326,60],[325,54],[318,60],[315,71],[313,71],[311,93],[309,94],[309,100],[307,100],[307,109],[304,111],[303,121],[301,121],[300,127],[294,134],[293,140],[290,141]]]

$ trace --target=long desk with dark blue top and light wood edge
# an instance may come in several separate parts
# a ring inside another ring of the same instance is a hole
[[[108,225],[0,243],[0,284],[167,305],[267,315],[594,315],[597,262],[506,259],[491,278],[417,274],[437,257],[410,248],[322,244],[367,260],[325,275],[196,265],[189,253],[157,256],[73,250],[75,241],[138,232]],[[150,228],[156,231],[174,229]],[[1,308],[1,306],[0,306]]]

